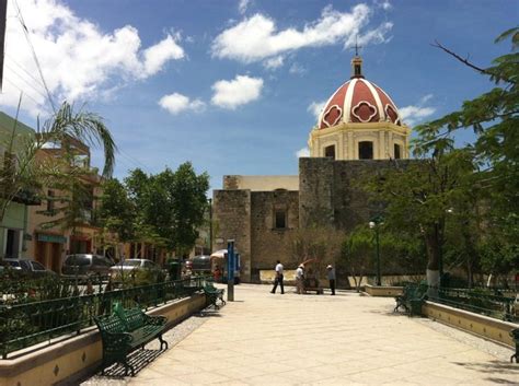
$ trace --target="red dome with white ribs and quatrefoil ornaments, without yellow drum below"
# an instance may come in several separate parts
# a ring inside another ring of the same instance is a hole
[[[319,116],[318,128],[378,121],[402,125],[399,109],[391,97],[360,75],[353,77],[330,97]]]

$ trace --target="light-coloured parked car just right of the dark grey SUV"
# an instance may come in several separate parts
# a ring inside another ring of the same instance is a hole
[[[165,277],[160,266],[148,259],[125,259],[111,268],[112,283],[149,284]]]

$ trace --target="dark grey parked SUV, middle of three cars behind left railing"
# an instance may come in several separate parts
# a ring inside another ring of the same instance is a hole
[[[107,279],[114,261],[107,257],[92,254],[76,254],[65,257],[61,276],[65,278]]]

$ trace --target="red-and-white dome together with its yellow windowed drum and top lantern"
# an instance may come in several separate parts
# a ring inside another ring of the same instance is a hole
[[[310,156],[335,160],[408,159],[411,129],[396,105],[365,79],[362,59],[351,60],[351,78],[327,100],[310,132]]]

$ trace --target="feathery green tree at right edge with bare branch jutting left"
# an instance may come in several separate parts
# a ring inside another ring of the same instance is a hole
[[[473,151],[478,165],[473,187],[481,196],[474,208],[481,208],[483,226],[477,227],[477,239],[464,237],[465,253],[481,249],[485,260],[483,267],[494,267],[493,271],[497,267],[509,271],[519,269],[517,264],[499,262],[500,259],[510,261],[501,256],[508,256],[507,252],[517,252],[519,239],[519,27],[506,31],[496,43],[508,38],[511,40],[511,52],[496,58],[488,68],[478,67],[437,43],[437,47],[487,77],[496,86],[464,102],[461,109],[415,128],[418,132],[416,149],[420,153],[437,152],[459,130],[472,128],[475,132],[476,140],[468,149]],[[459,220],[459,229],[465,226],[466,234],[474,234],[475,226],[470,230],[471,222],[461,217]]]

